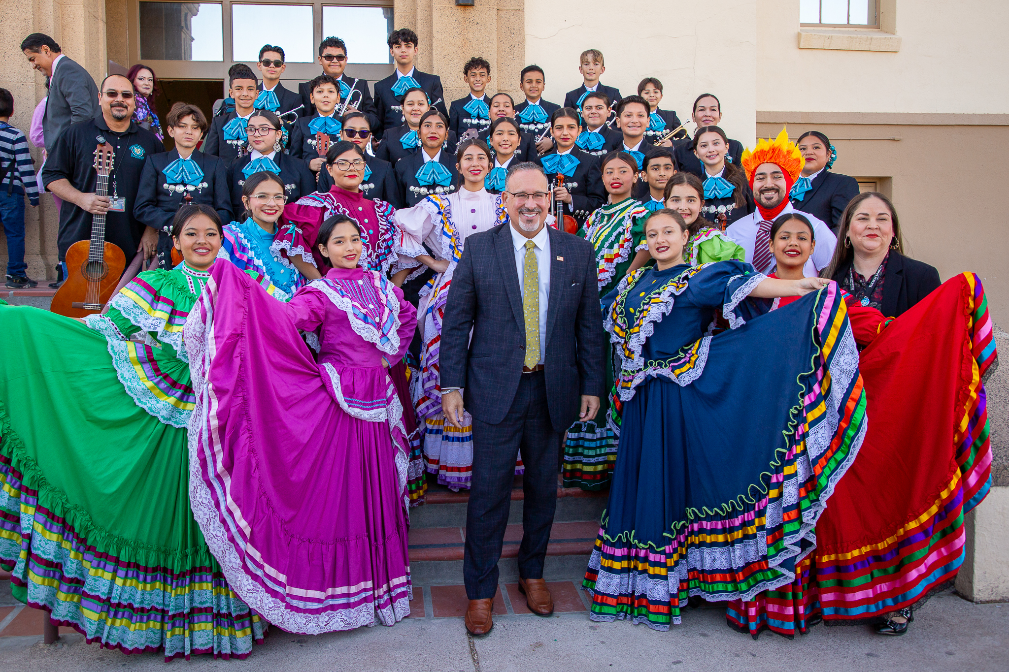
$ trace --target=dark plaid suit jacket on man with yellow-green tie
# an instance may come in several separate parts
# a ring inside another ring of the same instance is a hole
[[[488,424],[501,422],[512,407],[526,359],[526,321],[509,226],[466,239],[442,326],[442,387],[465,388],[466,410]],[[580,395],[603,394],[605,363],[597,354],[605,348],[605,332],[591,243],[555,229],[548,232],[550,298],[541,347],[550,420],[562,433],[578,417]]]

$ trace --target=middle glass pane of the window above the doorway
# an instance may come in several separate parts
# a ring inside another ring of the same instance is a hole
[[[284,49],[287,62],[315,60],[312,5],[231,5],[233,58],[255,61],[263,44]]]

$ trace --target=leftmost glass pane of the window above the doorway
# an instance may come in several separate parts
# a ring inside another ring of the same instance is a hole
[[[141,2],[141,60],[223,60],[221,5]]]

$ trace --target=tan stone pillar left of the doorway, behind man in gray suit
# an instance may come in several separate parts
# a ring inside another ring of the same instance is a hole
[[[45,77],[31,70],[18,48],[32,32],[44,32],[54,39],[69,57],[84,65],[95,82],[106,71],[104,0],[0,0],[0,54],[7,68],[0,74],[0,87],[14,96],[14,116],[10,123],[28,134],[31,113],[45,97]],[[41,148],[32,150],[35,167],[42,161]],[[59,214],[51,195],[41,198],[39,208],[26,207],[25,260],[28,275],[36,280],[53,279],[57,263]],[[0,242],[0,260],[6,264],[7,244]]]

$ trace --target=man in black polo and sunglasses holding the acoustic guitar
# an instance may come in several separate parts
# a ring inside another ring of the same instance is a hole
[[[133,97],[133,85],[125,77],[105,78],[98,92],[101,116],[67,127],[45,161],[42,182],[65,201],[57,238],[61,262],[74,243],[91,240],[92,216],[102,213],[106,214],[105,240],[122,249],[127,265],[138,252],[147,259],[156,252],[157,231],[133,218],[133,201],[147,155],[163,152],[164,147],[153,133],[132,121]],[[107,196],[95,193],[99,137],[115,152]]]

